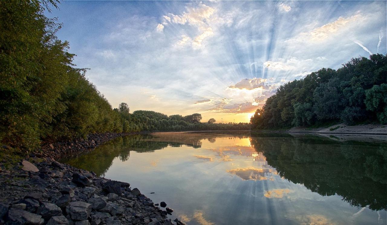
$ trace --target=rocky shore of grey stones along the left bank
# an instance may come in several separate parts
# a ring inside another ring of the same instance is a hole
[[[99,134],[46,144],[41,153],[0,171],[0,224],[183,225],[167,219],[173,209],[164,202],[154,204],[130,184],[53,159],[95,148],[121,135]]]

